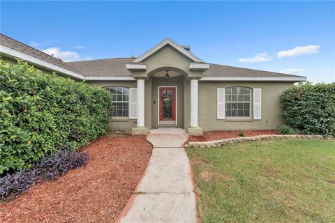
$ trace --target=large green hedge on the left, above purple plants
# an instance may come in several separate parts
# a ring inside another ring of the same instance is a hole
[[[111,110],[103,89],[0,61],[0,174],[105,134]]]

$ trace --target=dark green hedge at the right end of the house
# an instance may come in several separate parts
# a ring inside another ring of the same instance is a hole
[[[280,98],[290,127],[301,134],[335,135],[335,83],[292,85]]]

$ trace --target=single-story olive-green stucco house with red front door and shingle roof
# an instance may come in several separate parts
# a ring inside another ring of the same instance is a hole
[[[207,63],[166,38],[137,58],[64,62],[1,34],[1,59],[20,58],[45,72],[85,80],[114,96],[111,128],[272,130],[283,123],[278,96],[306,77]]]

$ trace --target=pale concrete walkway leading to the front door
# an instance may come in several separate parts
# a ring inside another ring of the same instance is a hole
[[[191,167],[179,128],[150,130],[154,145],[146,173],[120,215],[120,222],[196,222]]]

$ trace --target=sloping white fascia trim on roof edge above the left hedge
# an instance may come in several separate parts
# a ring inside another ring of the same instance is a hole
[[[10,49],[10,48],[5,47],[3,45],[0,45],[0,52],[2,52],[3,54],[10,55],[10,56],[18,57],[20,59],[23,59],[24,61],[29,61],[31,63],[42,66],[43,68],[49,68],[49,69],[52,69],[54,71],[58,71],[58,72],[60,72],[61,74],[64,74],[64,75],[75,77],[77,79],[85,79],[85,77],[83,75],[77,74],[76,72],[66,70],[66,69],[61,68],[59,66],[56,66],[52,63],[48,63],[48,62],[45,62],[43,60],[37,59],[34,56],[29,56],[27,54],[23,54],[22,52],[18,52],[15,49]]]

